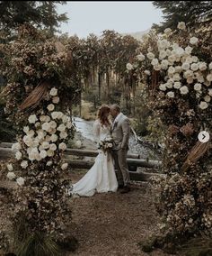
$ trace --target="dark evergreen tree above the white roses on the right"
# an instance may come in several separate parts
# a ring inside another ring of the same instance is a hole
[[[179,22],[190,27],[197,23],[212,22],[211,1],[154,1],[153,5],[163,12],[164,22],[153,25],[159,32],[163,32],[165,28],[175,29]]]

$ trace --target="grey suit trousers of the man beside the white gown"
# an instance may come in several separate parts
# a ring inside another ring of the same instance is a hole
[[[119,185],[127,186],[130,181],[127,163],[128,150],[113,151],[113,158],[115,161],[115,168],[118,170]]]

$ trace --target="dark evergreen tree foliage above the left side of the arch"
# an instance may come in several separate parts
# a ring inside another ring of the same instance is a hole
[[[59,23],[66,22],[66,14],[57,14],[57,4],[66,1],[0,1],[0,29],[10,31],[23,23],[56,32]]]

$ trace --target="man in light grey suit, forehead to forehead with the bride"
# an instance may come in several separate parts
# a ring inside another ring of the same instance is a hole
[[[128,138],[130,133],[130,123],[128,117],[120,112],[117,104],[110,106],[110,114],[114,121],[111,127],[111,135],[114,141],[112,148],[115,166],[118,169],[119,188],[123,188],[120,193],[128,193],[130,180],[127,164]]]

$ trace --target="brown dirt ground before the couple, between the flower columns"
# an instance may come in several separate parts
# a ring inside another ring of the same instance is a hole
[[[73,171],[75,183],[84,172]],[[134,182],[128,194],[103,193],[71,198],[71,233],[79,242],[77,256],[165,256],[163,251],[141,251],[139,242],[158,233],[158,215],[147,183]]]

